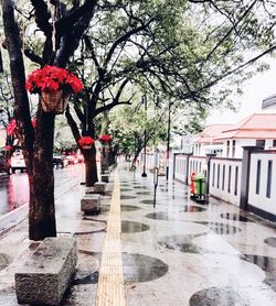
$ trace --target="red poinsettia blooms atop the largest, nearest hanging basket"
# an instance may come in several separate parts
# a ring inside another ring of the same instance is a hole
[[[78,92],[84,86],[82,81],[72,73],[56,66],[45,66],[32,72],[28,78],[25,88],[31,94],[42,91],[54,92],[65,89],[70,92]]]

